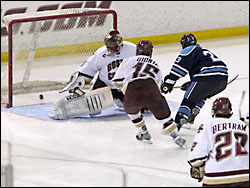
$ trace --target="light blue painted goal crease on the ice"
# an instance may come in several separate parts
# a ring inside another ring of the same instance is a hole
[[[175,102],[168,102],[171,111],[177,110],[179,107],[178,103]],[[46,103],[46,104],[38,104],[38,105],[29,105],[29,106],[21,106],[21,107],[13,107],[13,108],[6,108],[3,111],[11,112],[14,114],[19,114],[27,117],[32,117],[41,120],[50,120],[50,121],[100,121],[100,120],[119,120],[119,119],[126,119],[129,118],[126,112],[119,109],[116,105],[104,109],[101,114],[90,117],[81,116],[78,118],[72,118],[67,120],[54,120],[49,117],[49,113],[53,109],[53,103]],[[144,115],[152,115],[151,113],[147,113]]]

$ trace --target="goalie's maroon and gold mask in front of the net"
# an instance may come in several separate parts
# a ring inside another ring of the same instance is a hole
[[[104,43],[108,49],[108,55],[119,53],[122,46],[122,37],[117,30],[111,30],[104,38]]]

